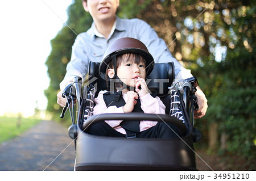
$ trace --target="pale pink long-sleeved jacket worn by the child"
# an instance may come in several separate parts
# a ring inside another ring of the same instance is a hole
[[[105,101],[103,99],[103,94],[107,91],[100,91],[98,97],[94,99],[96,106],[93,109],[93,115],[98,115],[101,113],[123,113],[123,107],[109,106],[106,107]],[[127,94],[122,94],[123,99],[127,102]],[[155,114],[165,114],[166,106],[160,100],[158,96],[153,98],[149,93],[143,97],[139,98],[141,100],[141,108],[144,113],[155,113]],[[110,127],[114,128],[116,131],[126,134],[125,129],[120,126],[122,120],[106,121]],[[154,127],[157,121],[141,121],[139,124],[140,131],[144,131],[148,128]]]

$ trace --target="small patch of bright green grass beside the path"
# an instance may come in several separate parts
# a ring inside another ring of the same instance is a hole
[[[14,117],[0,117],[0,144],[3,141],[10,140],[19,136],[27,129],[38,124],[40,120],[36,119],[18,119]]]

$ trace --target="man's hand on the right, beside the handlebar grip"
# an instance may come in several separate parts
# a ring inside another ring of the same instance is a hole
[[[197,89],[196,99],[197,99],[197,104],[199,106],[199,109],[194,111],[194,116],[195,116],[195,119],[199,119],[205,116],[207,112],[208,104],[207,104],[207,98],[205,97],[204,92],[200,89],[199,86],[197,86],[196,89]]]

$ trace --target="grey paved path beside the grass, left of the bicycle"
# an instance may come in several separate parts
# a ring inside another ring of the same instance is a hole
[[[60,123],[41,121],[0,145],[0,170],[73,170],[72,141],[68,129]]]

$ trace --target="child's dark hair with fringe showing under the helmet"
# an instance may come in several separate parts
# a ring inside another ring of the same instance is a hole
[[[140,62],[143,62],[144,65],[146,65],[146,60],[143,56],[141,56],[140,54],[137,54],[137,53],[125,53],[125,54],[121,54],[119,56],[117,56],[117,69],[118,67],[121,65],[121,63],[125,63],[126,61],[128,60],[132,60],[135,64],[139,64]],[[109,85],[109,81],[110,81],[110,78],[108,76],[108,69],[111,68],[113,69],[114,68],[114,65],[113,65],[113,62],[110,61],[109,62],[109,65],[107,66],[106,68],[106,83],[107,85]],[[115,88],[116,87],[122,87],[122,85],[120,83],[116,83],[115,84]]]

